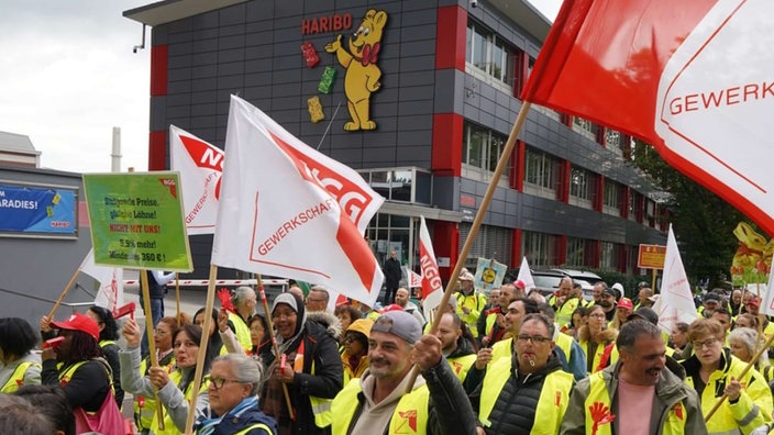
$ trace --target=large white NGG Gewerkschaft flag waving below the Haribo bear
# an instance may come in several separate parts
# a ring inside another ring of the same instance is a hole
[[[212,264],[319,283],[373,306],[384,274],[363,234],[384,198],[234,96],[225,150]]]

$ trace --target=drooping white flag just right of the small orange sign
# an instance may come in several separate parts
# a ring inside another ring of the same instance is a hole
[[[659,313],[659,326],[664,331],[672,331],[678,322],[690,324],[698,317],[694,304],[693,292],[685,267],[677,249],[677,241],[670,225],[664,254],[664,278],[661,281],[661,298],[654,306]]]

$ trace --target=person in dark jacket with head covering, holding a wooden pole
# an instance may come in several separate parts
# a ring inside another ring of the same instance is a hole
[[[261,410],[277,421],[277,433],[329,434],[331,400],[341,390],[343,369],[339,355],[339,320],[327,311],[308,312],[303,300],[280,293],[274,300],[272,321],[279,354],[264,361],[269,378],[261,391]],[[285,365],[283,366],[283,359]],[[287,386],[295,419],[283,392]]]

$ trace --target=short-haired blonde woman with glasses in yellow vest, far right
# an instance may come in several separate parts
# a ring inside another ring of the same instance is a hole
[[[770,423],[773,406],[769,384],[754,369],[740,376],[745,364],[723,348],[725,331],[720,323],[712,319],[694,321],[688,326],[688,339],[694,355],[681,364],[686,372],[685,382],[701,398],[701,409],[707,412],[721,395],[727,397],[707,421],[707,431],[750,434]]]

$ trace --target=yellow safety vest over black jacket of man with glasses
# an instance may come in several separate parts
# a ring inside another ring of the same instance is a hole
[[[485,427],[491,426],[489,414],[495,408],[502,387],[510,378],[510,358],[501,358],[486,370],[482,384],[480,405],[478,406],[478,421]],[[539,422],[539,424],[532,426],[530,434],[559,434],[564,412],[570,404],[570,392],[573,389],[573,376],[563,370],[552,371],[545,377],[543,389],[540,391],[540,398],[538,399],[538,408],[535,409],[535,423]],[[540,415],[539,421],[538,415]]]

